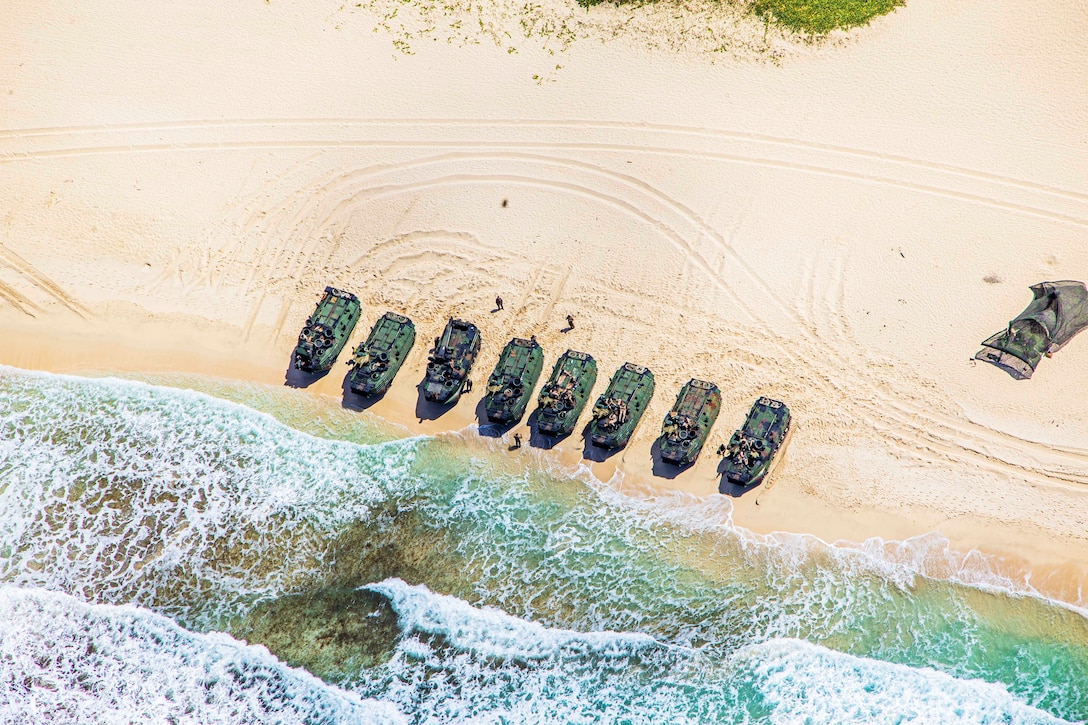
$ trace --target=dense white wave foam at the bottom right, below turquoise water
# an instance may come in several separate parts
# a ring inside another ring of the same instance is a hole
[[[779,639],[732,658],[771,706],[771,723],[1058,724],[999,685],[956,679]]]

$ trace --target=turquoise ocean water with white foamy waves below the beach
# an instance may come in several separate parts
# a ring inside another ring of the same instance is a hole
[[[757,537],[470,431],[156,381],[0,368],[0,722],[1088,720],[1085,613],[927,576],[935,538]]]

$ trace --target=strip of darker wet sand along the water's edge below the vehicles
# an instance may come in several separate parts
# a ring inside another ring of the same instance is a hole
[[[341,353],[337,365],[329,374],[299,392],[321,400],[325,404],[343,405],[339,385],[347,371],[345,359],[350,358],[350,348],[358,344],[370,322],[364,309],[363,316],[351,335],[351,342]],[[11,315],[0,314],[0,334],[5,339],[20,340],[21,345],[0,351],[0,364],[26,370],[41,370],[66,374],[110,374],[157,373],[197,374],[210,379],[256,382],[268,385],[285,384],[286,367],[273,364],[277,357],[288,360],[293,345],[282,349],[271,348],[262,343],[245,343],[238,346],[236,334],[230,329],[214,330],[210,327],[185,327],[177,320],[170,323],[143,324],[128,322],[108,327],[103,334],[99,324],[76,322],[70,316],[49,316],[49,334],[41,332],[39,321],[26,321]],[[375,317],[376,315],[371,315]],[[112,340],[112,342],[102,342]],[[187,346],[194,340],[201,340],[199,348]],[[425,345],[424,345],[425,347]],[[197,351],[200,352],[197,352]],[[548,353],[551,355],[551,351]],[[558,353],[556,353],[557,355]],[[545,371],[537,381],[537,389],[549,369],[552,358],[546,358]],[[478,361],[472,377],[481,379],[490,367],[486,358]],[[493,361],[492,361],[493,362]],[[512,433],[523,434],[523,451],[531,450],[534,457],[552,458],[559,467],[571,471],[583,467],[596,481],[622,495],[636,500],[672,495],[706,499],[717,493],[717,479],[712,479],[718,464],[713,451],[704,447],[698,460],[691,469],[677,478],[654,476],[652,466],[640,459],[639,454],[647,454],[650,443],[657,434],[659,421],[648,419],[648,413],[640,422],[631,444],[616,456],[605,462],[593,462],[582,457],[582,441],[578,430],[554,448],[545,450],[530,444],[529,429],[522,421],[502,438],[483,437],[472,428],[479,421],[473,415],[481,404],[483,386],[462,396],[462,400],[441,417],[422,420],[416,416],[416,384],[423,376],[425,349],[415,346],[390,392],[368,411],[382,421],[393,423],[407,435],[457,434],[491,439],[495,445],[508,447]],[[601,381],[598,380],[598,383]],[[477,392],[479,390],[479,392]],[[603,388],[594,388],[593,397]],[[592,403],[592,400],[591,400]],[[535,405],[535,390],[533,403]],[[588,418],[583,410],[580,423]],[[528,418],[528,413],[527,416]],[[712,431],[714,440],[728,437],[724,413]],[[803,426],[803,422],[801,423]],[[481,441],[483,442],[483,441]],[[523,452],[522,451],[522,452]],[[509,455],[522,452],[510,450]],[[793,456],[796,456],[796,452]],[[630,456],[630,460],[628,457]],[[1040,597],[1073,606],[1078,611],[1088,607],[1088,565],[1076,553],[1075,541],[1055,540],[1046,532],[1031,531],[1010,526],[997,519],[975,517],[974,520],[961,516],[955,526],[929,528],[910,517],[892,511],[870,506],[861,511],[846,512],[799,490],[787,471],[791,448],[779,459],[778,470],[771,479],[769,490],[764,486],[746,491],[740,497],[728,496],[732,506],[731,520],[738,528],[761,538],[779,536],[811,536],[828,546],[858,553],[879,551],[886,561],[905,564],[912,570],[936,579],[955,579],[963,573],[977,576],[981,565],[982,579],[974,581],[980,586],[1001,586],[1007,581],[1012,591],[1036,593]],[[786,480],[782,480],[783,474]],[[758,500],[758,503],[756,503]],[[939,513],[935,509],[935,513]],[[936,537],[936,538],[934,538]],[[1015,542],[1015,543],[1013,543]],[[922,543],[918,550],[914,544]],[[1070,544],[1074,544],[1071,546]],[[981,561],[979,556],[981,555]],[[963,580],[973,583],[972,576]]]

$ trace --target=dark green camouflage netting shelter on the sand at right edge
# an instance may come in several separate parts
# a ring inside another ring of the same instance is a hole
[[[1027,380],[1043,355],[1056,353],[1088,328],[1088,290],[1084,282],[1040,282],[1035,299],[1009,327],[982,341],[975,359],[998,366],[1016,380]]]

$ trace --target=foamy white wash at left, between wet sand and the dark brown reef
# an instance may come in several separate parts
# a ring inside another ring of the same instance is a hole
[[[297,587],[330,534],[410,496],[419,443],[329,441],[200,393],[9,369],[2,576],[224,614]]]

